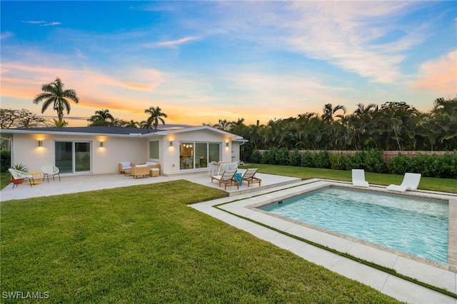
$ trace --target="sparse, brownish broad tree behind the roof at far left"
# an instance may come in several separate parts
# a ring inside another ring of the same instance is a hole
[[[48,124],[46,119],[36,116],[25,108],[21,110],[0,108],[0,128],[33,128]]]

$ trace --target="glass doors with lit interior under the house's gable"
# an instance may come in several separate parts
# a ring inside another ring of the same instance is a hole
[[[179,143],[181,170],[206,168],[211,161],[220,161],[221,143]]]

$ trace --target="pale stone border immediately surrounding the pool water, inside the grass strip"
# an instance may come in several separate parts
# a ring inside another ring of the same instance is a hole
[[[391,250],[390,248],[385,248],[355,238],[342,238],[341,235],[328,233],[328,231],[322,231],[321,229],[316,229],[316,227],[309,227],[303,225],[301,222],[292,220],[286,221],[284,218],[272,216],[271,213],[266,213],[266,211],[261,211],[256,208],[257,206],[272,203],[273,201],[281,201],[281,199],[295,196],[299,193],[305,193],[331,185],[353,187],[349,183],[315,179],[306,183],[301,183],[297,186],[224,203],[218,208],[241,218],[250,219],[251,221],[274,228],[275,230],[283,231],[287,235],[309,240],[313,243],[337,250],[338,252],[360,258],[361,260],[391,268],[396,270],[397,273],[406,275],[409,278],[414,278],[423,283],[443,288],[451,291],[451,293],[457,293],[457,263],[455,259],[456,254],[454,254],[457,253],[457,196],[448,196],[446,193],[431,191],[408,191],[407,193],[410,196],[438,198],[449,201],[450,229],[448,234],[447,264],[433,262],[431,260],[426,260],[425,258],[418,258],[414,255],[409,255],[408,253]],[[391,193],[391,191],[387,191],[383,186],[370,186],[368,189]],[[451,229],[451,227],[453,229]]]

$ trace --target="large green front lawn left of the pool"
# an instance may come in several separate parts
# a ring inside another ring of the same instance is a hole
[[[222,196],[172,181],[2,202],[2,295],[41,291],[46,303],[398,303],[186,206]]]

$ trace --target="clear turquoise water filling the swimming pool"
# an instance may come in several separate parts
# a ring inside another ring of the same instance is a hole
[[[261,209],[421,258],[448,260],[448,201],[331,186]]]

